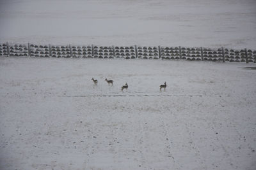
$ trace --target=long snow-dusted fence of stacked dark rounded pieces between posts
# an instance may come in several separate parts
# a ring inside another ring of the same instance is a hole
[[[212,50],[211,48],[185,48],[163,46],[51,46],[51,45],[6,45],[0,44],[0,55],[31,57],[84,57],[84,58],[125,58],[135,59],[186,59],[256,62],[256,51],[228,50],[227,48]]]

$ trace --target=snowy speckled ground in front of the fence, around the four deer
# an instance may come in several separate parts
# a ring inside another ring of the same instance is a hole
[[[0,169],[256,169],[245,66],[0,58]]]

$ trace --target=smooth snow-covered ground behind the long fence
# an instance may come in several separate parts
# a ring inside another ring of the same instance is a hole
[[[255,0],[2,0],[0,41],[256,49]]]

